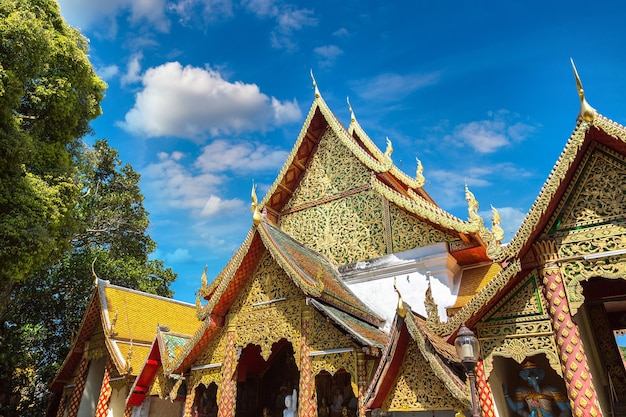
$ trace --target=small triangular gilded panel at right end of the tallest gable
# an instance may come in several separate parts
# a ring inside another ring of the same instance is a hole
[[[389,211],[391,217],[393,252],[402,252],[439,242],[458,240],[457,237],[444,233],[418,220],[415,216],[412,216],[393,203],[389,204]]]

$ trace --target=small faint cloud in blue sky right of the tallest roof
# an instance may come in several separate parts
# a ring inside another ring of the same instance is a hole
[[[454,139],[479,153],[492,153],[526,139],[536,130],[534,126],[514,121],[516,116],[506,110],[489,113],[489,117],[457,126]]]

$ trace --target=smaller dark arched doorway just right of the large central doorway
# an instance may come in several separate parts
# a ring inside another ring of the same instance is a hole
[[[331,375],[326,371],[315,377],[319,417],[354,417],[358,401],[353,391],[352,376],[340,369]]]

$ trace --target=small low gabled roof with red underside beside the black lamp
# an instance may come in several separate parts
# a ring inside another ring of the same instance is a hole
[[[427,366],[449,393],[451,405],[461,404],[469,408],[469,393],[461,379],[464,378],[463,365],[459,362],[454,347],[430,332],[426,328],[426,320],[412,312],[406,303],[403,305],[406,315],[403,317],[396,314],[394,318],[389,343],[364,396],[366,407],[377,409],[383,406],[403,370],[409,344],[414,343],[422,356],[421,360],[427,362]]]

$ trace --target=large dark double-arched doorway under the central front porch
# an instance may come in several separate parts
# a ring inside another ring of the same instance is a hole
[[[235,417],[282,417],[285,396],[298,389],[299,381],[294,350],[285,339],[272,345],[267,361],[261,356],[260,346],[246,346],[237,368]]]

